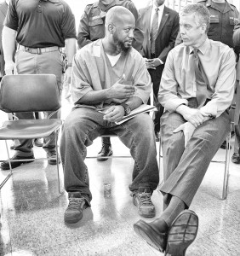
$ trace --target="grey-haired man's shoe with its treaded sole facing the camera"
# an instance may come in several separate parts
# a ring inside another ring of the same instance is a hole
[[[180,212],[169,229],[165,255],[184,256],[187,247],[197,236],[198,217],[191,210]]]

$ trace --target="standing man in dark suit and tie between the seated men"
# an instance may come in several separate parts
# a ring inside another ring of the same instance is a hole
[[[179,32],[179,15],[173,9],[164,6],[165,0],[154,0],[154,3],[140,9],[140,18],[144,29],[143,56],[146,67],[151,75],[153,93],[157,112],[155,112],[155,137],[159,141],[160,117],[163,107],[157,101],[160,80],[164,63],[169,51],[174,48]]]

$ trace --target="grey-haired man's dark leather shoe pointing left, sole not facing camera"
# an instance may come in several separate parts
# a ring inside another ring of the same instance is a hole
[[[162,219],[156,219],[151,223],[146,223],[143,220],[139,220],[134,224],[135,233],[143,238],[151,247],[154,247],[156,250],[163,253],[167,244],[167,235],[168,235],[168,225],[162,226],[162,230],[166,230],[166,232],[162,233],[159,231],[159,220],[161,220],[161,224],[165,224]]]

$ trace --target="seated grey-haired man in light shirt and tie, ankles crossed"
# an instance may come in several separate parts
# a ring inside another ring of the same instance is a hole
[[[152,247],[172,256],[185,255],[197,236],[197,214],[188,208],[230,132],[236,58],[229,46],[208,38],[209,21],[209,10],[202,4],[188,4],[180,11],[183,44],[169,52],[158,94],[166,109],[160,130],[163,213],[151,223],[134,224]]]

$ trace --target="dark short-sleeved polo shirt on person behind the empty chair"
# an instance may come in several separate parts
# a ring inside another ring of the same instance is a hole
[[[75,18],[63,0],[12,0],[5,26],[17,31],[17,42],[26,47],[64,47],[76,38]]]

